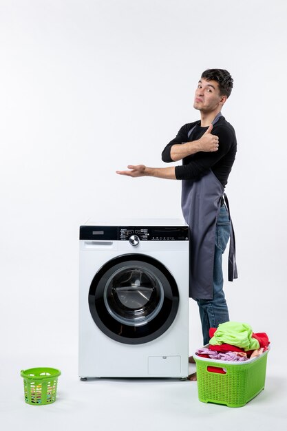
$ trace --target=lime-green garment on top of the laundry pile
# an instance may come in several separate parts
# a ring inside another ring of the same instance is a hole
[[[259,341],[252,338],[253,330],[250,325],[239,322],[225,322],[220,324],[215,331],[209,344],[218,346],[220,344],[231,344],[248,350],[259,348]]]

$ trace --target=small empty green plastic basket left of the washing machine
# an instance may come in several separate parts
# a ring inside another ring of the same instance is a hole
[[[24,379],[25,402],[32,406],[44,406],[56,401],[60,370],[56,368],[29,368],[21,370]]]

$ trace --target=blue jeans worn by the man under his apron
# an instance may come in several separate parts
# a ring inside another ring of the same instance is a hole
[[[203,344],[209,344],[209,328],[217,328],[228,322],[228,308],[223,291],[222,254],[231,233],[231,222],[225,204],[220,207],[215,231],[215,253],[213,266],[213,299],[197,299],[202,324]]]

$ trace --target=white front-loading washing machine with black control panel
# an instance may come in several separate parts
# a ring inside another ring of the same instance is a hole
[[[189,227],[80,227],[79,376],[187,377]]]

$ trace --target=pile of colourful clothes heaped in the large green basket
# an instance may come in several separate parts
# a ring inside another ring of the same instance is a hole
[[[210,328],[209,336],[209,346],[195,353],[220,361],[246,361],[258,357],[270,344],[266,333],[253,333],[250,325],[239,322],[225,322],[218,328]]]

